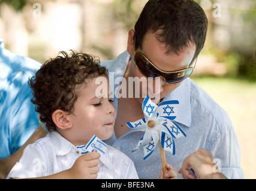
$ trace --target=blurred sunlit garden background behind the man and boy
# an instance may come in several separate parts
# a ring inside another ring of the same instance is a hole
[[[147,0],[0,0],[5,47],[44,63],[74,49],[109,60],[127,48]],[[198,0],[206,44],[191,78],[233,121],[245,178],[256,178],[256,1]]]

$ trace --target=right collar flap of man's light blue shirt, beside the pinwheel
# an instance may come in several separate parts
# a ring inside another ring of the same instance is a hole
[[[182,84],[179,85],[170,94],[164,97],[165,100],[178,100],[179,106],[177,107],[178,114],[174,121],[191,126],[191,79],[185,79]]]

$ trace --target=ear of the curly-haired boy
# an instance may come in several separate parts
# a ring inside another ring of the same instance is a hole
[[[67,113],[61,109],[57,109],[55,112],[53,112],[52,120],[55,125],[62,130],[73,127],[73,124],[68,119]]]

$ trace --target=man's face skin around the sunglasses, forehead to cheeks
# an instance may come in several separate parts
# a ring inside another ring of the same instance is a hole
[[[184,48],[182,53],[166,53],[165,45],[158,41],[155,37],[155,33],[149,32],[144,36],[143,48],[138,48],[137,51],[143,53],[156,67],[165,72],[173,72],[189,67],[192,58],[195,54],[195,44],[190,47]],[[134,66],[134,61],[131,62],[131,73],[138,78],[144,78],[144,75]],[[152,81],[147,81],[147,92],[144,92],[140,86],[140,103],[143,102],[145,95],[152,98],[152,101],[159,103],[159,101],[167,96],[171,91],[175,90],[182,82],[177,84],[165,84],[164,79],[153,80],[153,85],[150,85]]]

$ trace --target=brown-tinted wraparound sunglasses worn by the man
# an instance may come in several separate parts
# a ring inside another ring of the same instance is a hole
[[[150,61],[140,51],[135,51],[133,57],[135,66],[144,76],[147,78],[156,78],[158,76],[162,77],[165,84],[176,84],[178,82],[182,82],[184,79],[188,78],[189,75],[191,75],[195,68],[195,63],[197,63],[197,58],[195,58],[195,60],[192,61],[192,64],[189,64],[189,66],[193,65],[193,67],[188,67],[186,69],[176,70],[173,72],[165,72],[156,67],[155,64],[153,64],[152,61]]]

